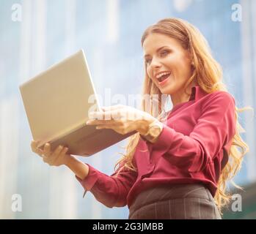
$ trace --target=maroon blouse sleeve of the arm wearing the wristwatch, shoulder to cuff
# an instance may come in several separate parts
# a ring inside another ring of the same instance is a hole
[[[169,161],[185,167],[191,173],[203,170],[222,148],[228,148],[235,135],[235,100],[224,91],[218,91],[202,107],[190,135],[183,135],[164,125],[153,148],[169,154]]]

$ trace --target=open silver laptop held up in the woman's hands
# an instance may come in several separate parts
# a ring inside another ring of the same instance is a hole
[[[90,111],[101,110],[83,50],[19,86],[29,127],[39,147],[62,145],[68,154],[91,156],[136,132],[87,125]]]

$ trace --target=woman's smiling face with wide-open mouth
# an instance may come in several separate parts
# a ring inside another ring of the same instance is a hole
[[[147,75],[162,94],[170,94],[172,103],[186,101],[186,81],[191,78],[189,51],[178,40],[165,34],[149,34],[144,43]]]

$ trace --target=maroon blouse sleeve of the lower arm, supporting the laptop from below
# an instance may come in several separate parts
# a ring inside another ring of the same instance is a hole
[[[126,197],[131,186],[136,181],[137,173],[133,170],[122,168],[118,176],[117,172],[108,176],[91,165],[88,166],[89,173],[84,180],[76,176],[84,187],[85,192],[92,192],[96,200],[109,208],[127,205]]]

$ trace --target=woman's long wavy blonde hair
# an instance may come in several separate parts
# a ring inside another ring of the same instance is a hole
[[[145,33],[142,36],[142,45],[147,36],[153,33],[165,34],[169,37],[177,39],[184,49],[189,50],[194,69],[191,78],[189,78],[185,85],[185,90],[189,84],[196,81],[202,90],[208,94],[214,91],[227,91],[227,87],[222,82],[222,67],[215,59],[213,59],[211,49],[209,48],[205,37],[203,37],[200,31],[192,26],[191,23],[178,18],[166,18],[164,20],[160,20],[158,23],[148,27],[145,30]],[[148,77],[147,72],[145,72],[142,94],[150,94],[151,99],[153,99],[154,94],[158,94],[158,97],[161,97],[160,90]],[[158,119],[161,119],[163,116],[162,107],[164,106],[164,103],[161,102],[162,99],[158,98],[157,111],[154,112],[153,108],[147,110],[147,112],[151,115],[153,115],[153,113],[157,113],[157,116],[154,117]],[[232,180],[236,173],[238,173],[238,170],[241,169],[243,157],[249,151],[249,147],[240,135],[240,132],[244,132],[244,129],[238,122],[238,113],[247,109],[248,107],[241,109],[235,107],[234,110],[236,132],[233,137],[233,143],[230,147],[229,160],[227,165],[222,168],[217,184],[216,195],[214,196],[214,200],[221,214],[223,206],[227,205],[231,198],[231,195],[225,191],[227,181]],[[142,110],[146,111],[145,100],[142,100]],[[139,133],[136,133],[130,137],[128,145],[126,146],[126,154],[122,154],[122,157],[117,161],[117,164],[114,167],[116,168],[117,165],[119,165],[117,168],[117,175],[123,168],[136,171],[133,159],[138,142]],[[232,184],[241,189],[241,187],[237,186],[233,181]]]

